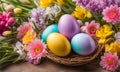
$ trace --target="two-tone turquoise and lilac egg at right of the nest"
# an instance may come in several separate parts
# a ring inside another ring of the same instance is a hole
[[[71,46],[75,53],[79,55],[90,55],[95,49],[95,41],[85,33],[76,34],[71,40]]]

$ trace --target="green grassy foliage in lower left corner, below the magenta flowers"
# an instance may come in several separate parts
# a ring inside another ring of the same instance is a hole
[[[16,63],[21,61],[19,54],[13,50],[12,39],[3,38],[0,40],[0,68],[7,63]]]

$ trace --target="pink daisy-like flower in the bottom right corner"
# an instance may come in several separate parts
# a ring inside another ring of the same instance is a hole
[[[117,54],[105,53],[101,57],[100,65],[109,71],[115,71],[118,68],[119,60]]]

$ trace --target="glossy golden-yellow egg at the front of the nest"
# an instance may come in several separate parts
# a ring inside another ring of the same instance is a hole
[[[57,56],[67,56],[71,51],[70,42],[60,33],[51,33],[47,38],[48,48]]]

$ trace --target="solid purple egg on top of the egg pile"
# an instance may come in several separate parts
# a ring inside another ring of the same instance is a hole
[[[77,20],[69,14],[63,15],[58,22],[59,32],[71,39],[75,34],[80,32],[80,25]]]

